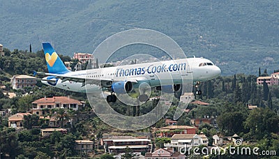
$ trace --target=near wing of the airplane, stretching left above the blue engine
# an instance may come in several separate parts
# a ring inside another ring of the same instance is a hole
[[[73,82],[80,82],[82,83],[82,86],[85,86],[85,84],[96,84],[99,86],[111,86],[112,82],[119,82],[120,80],[115,79],[107,79],[103,77],[80,77],[80,76],[70,76],[70,75],[64,75],[64,74],[56,74],[56,73],[34,73],[34,75],[49,75],[54,76],[56,78],[59,78],[63,82],[66,81],[73,81]],[[86,81],[86,83],[85,83]],[[125,79],[125,81],[137,83],[137,79]]]

